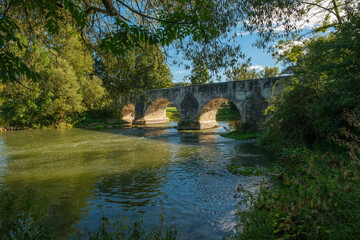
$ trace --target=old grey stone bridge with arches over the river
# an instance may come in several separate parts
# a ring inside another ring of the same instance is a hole
[[[275,77],[222,82],[187,87],[155,89],[131,96],[120,96],[122,120],[134,125],[168,123],[166,107],[175,106],[180,113],[179,130],[198,130],[218,126],[216,114],[227,100],[234,103],[241,121],[260,124],[265,120],[267,100],[277,94],[282,84]]]

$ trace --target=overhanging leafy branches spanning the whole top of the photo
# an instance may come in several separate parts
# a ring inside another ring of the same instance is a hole
[[[0,3],[0,80],[26,75],[36,80],[32,65],[11,48],[27,51],[35,38],[51,49],[60,25],[72,24],[96,51],[126,54],[142,43],[173,46],[185,59],[202,59],[209,71],[234,66],[244,57],[234,28],[257,33],[258,45],[295,34],[299,22],[318,16],[316,31],[341,25],[356,1],[299,0],[3,0]],[[350,9],[350,10],[349,10]],[[317,11],[319,10],[319,11]],[[19,25],[27,25],[20,31]],[[44,31],[35,33],[36,25]],[[35,34],[34,34],[35,33]],[[25,35],[21,41],[19,36]]]

